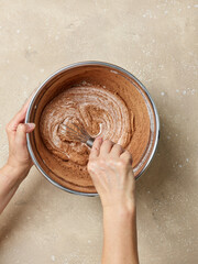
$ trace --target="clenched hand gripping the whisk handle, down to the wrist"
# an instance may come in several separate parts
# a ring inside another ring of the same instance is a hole
[[[90,152],[88,172],[103,209],[133,210],[135,179],[130,152],[119,144],[98,138]]]

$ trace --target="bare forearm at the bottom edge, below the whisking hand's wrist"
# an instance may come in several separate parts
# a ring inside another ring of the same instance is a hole
[[[103,211],[102,264],[138,264],[136,213],[132,210]]]

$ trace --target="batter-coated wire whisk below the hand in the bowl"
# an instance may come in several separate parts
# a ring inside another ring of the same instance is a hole
[[[73,123],[73,125],[76,130],[64,123],[61,124],[61,128],[67,133],[69,140],[82,142],[89,147],[92,147],[95,138],[90,136],[82,125],[77,125],[75,123]]]

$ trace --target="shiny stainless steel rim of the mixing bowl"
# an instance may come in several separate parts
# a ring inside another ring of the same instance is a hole
[[[96,65],[96,66],[107,66],[107,67],[110,67],[112,69],[117,69],[123,74],[127,74],[129,77],[131,77],[132,79],[134,79],[139,85],[140,87],[144,90],[144,92],[146,94],[146,96],[148,97],[150,99],[150,102],[153,107],[153,111],[154,111],[154,117],[155,117],[155,121],[156,121],[156,135],[155,135],[155,139],[154,139],[154,146],[153,146],[153,150],[152,150],[152,153],[145,164],[145,166],[143,167],[143,169],[139,173],[139,175],[135,177],[135,179],[139,179],[140,176],[146,170],[146,168],[148,167],[151,161],[153,160],[154,157],[154,154],[155,154],[155,151],[156,151],[156,147],[157,147],[157,143],[158,143],[158,139],[160,139],[160,118],[158,118],[158,113],[157,113],[157,109],[155,107],[155,103],[152,99],[152,97],[150,96],[147,89],[144,87],[144,85],[134,76],[132,75],[131,73],[129,73],[128,70],[123,69],[122,67],[120,66],[117,66],[114,64],[110,64],[110,63],[105,63],[105,62],[98,62],[98,61],[86,61],[86,62],[79,62],[79,63],[74,63],[74,64],[70,64],[68,66],[65,66],[63,68],[61,68],[59,70],[55,72],[54,74],[52,74],[38,88],[37,90],[35,91],[33,98],[31,99],[30,101],[30,105],[29,105],[29,108],[28,108],[28,111],[26,111],[26,117],[25,117],[25,123],[29,122],[29,118],[30,118],[30,114],[31,114],[31,110],[32,110],[32,107],[33,107],[33,103],[40,92],[40,90],[43,88],[43,86],[48,82],[52,78],[54,78],[56,75],[61,74],[62,72],[65,72],[67,69],[70,69],[70,68],[75,68],[75,67],[78,67],[78,66],[88,66],[88,65]],[[40,166],[38,162],[36,161],[35,156],[34,156],[34,153],[32,151],[32,146],[31,146],[31,143],[30,143],[30,134],[26,134],[26,140],[28,140],[28,148],[29,148],[29,152],[30,152],[30,155],[31,155],[31,158],[33,160],[35,166],[37,167],[37,169],[53,184],[55,185],[56,187],[63,189],[63,190],[66,190],[70,194],[75,194],[75,195],[81,195],[81,196],[98,196],[97,193],[91,193],[91,194],[87,194],[87,193],[82,193],[82,191],[76,191],[76,190],[70,190],[66,187],[63,187],[62,185],[57,184],[56,182],[54,182],[52,178],[50,178],[50,176],[42,169],[42,167]]]

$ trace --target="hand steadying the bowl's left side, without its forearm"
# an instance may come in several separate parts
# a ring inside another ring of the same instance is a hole
[[[34,123],[24,123],[26,110],[31,98],[24,103],[15,117],[7,124],[9,140],[9,158],[7,166],[19,170],[23,177],[26,176],[33,165],[26,145],[26,133],[34,130]]]

